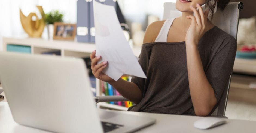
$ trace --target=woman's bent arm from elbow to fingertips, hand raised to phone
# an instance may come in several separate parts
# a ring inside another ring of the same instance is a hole
[[[206,116],[217,103],[217,99],[215,97],[214,89],[206,78],[199,51],[197,49],[199,39],[205,33],[205,25],[209,11],[203,13],[200,5],[197,5],[197,8],[199,11],[191,7],[195,16],[187,17],[192,20],[185,39],[188,81],[196,115]]]

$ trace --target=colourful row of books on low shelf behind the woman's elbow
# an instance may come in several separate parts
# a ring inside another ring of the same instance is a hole
[[[123,76],[121,77],[122,79],[129,81],[129,77]],[[102,95],[105,96],[120,96],[120,93],[112,87],[112,85],[108,84],[108,82],[101,81],[101,89],[102,89]],[[109,104],[114,104],[118,106],[123,106],[123,107],[131,107],[134,105],[131,101],[119,101],[119,102],[108,102]]]

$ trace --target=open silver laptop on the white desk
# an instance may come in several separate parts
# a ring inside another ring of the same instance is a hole
[[[52,132],[133,132],[156,121],[97,109],[82,59],[0,52],[0,81],[21,125]]]

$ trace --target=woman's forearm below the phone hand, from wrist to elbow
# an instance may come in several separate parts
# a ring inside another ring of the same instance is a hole
[[[196,115],[208,115],[217,103],[214,89],[203,70],[198,49],[186,45],[190,95]]]

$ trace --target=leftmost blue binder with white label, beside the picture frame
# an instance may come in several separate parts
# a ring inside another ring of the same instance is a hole
[[[90,3],[85,0],[77,1],[77,41],[90,42]]]

